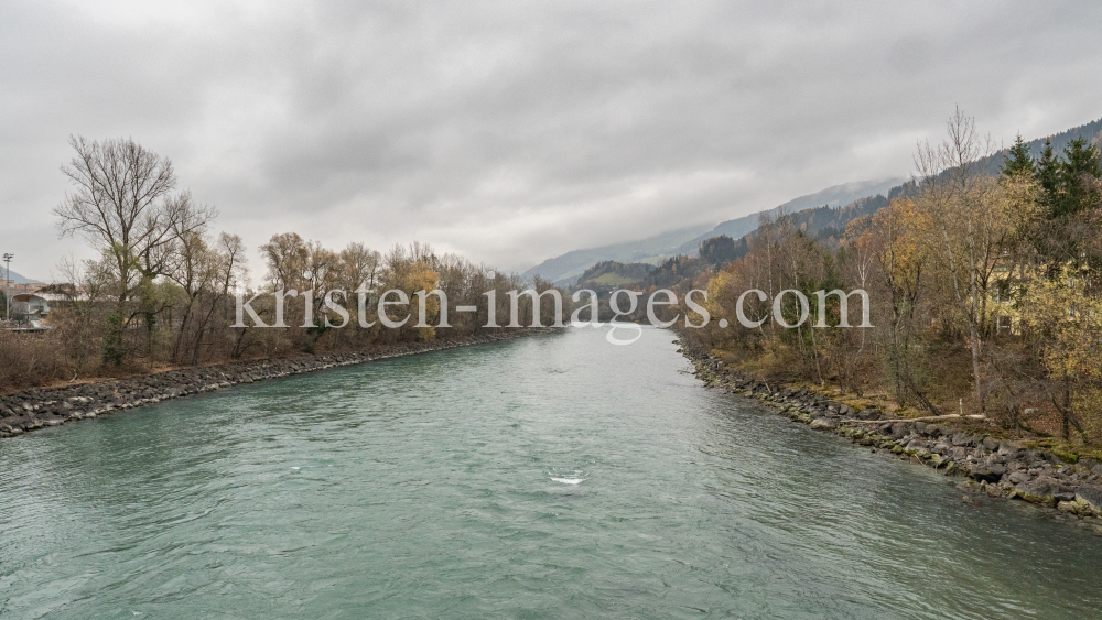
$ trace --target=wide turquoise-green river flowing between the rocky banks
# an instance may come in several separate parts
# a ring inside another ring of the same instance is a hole
[[[1102,537],[704,389],[668,331],[0,442],[0,618],[1100,618]]]

